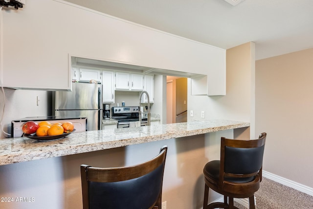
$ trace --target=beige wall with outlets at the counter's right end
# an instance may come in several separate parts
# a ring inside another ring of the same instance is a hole
[[[188,121],[208,119],[231,119],[251,124],[251,138],[254,134],[254,86],[255,86],[255,44],[252,42],[233,47],[226,51],[226,95],[191,95],[188,80]],[[194,117],[190,117],[190,110]],[[205,111],[205,118],[201,118]],[[256,133],[258,135],[258,133]],[[242,133],[241,138],[249,138]]]

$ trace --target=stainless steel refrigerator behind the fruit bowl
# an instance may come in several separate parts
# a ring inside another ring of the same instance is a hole
[[[71,92],[55,92],[55,116],[87,117],[87,131],[102,129],[102,85],[72,83]]]

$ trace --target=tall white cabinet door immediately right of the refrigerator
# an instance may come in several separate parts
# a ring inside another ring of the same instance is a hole
[[[102,102],[114,103],[114,71],[102,70]]]

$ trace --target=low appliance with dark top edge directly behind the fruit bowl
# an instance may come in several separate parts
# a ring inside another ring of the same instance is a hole
[[[24,117],[21,119],[13,120],[11,125],[11,137],[22,137],[23,124],[27,121],[48,121],[50,123],[63,123],[72,122],[76,132],[87,131],[87,118],[86,117],[61,117],[61,116],[41,116],[41,117]]]

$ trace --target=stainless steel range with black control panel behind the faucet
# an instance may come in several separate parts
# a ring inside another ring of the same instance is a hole
[[[139,121],[139,107],[112,107],[112,119],[117,120],[117,128],[128,128],[130,122]],[[148,125],[147,118],[143,117],[141,126]]]

